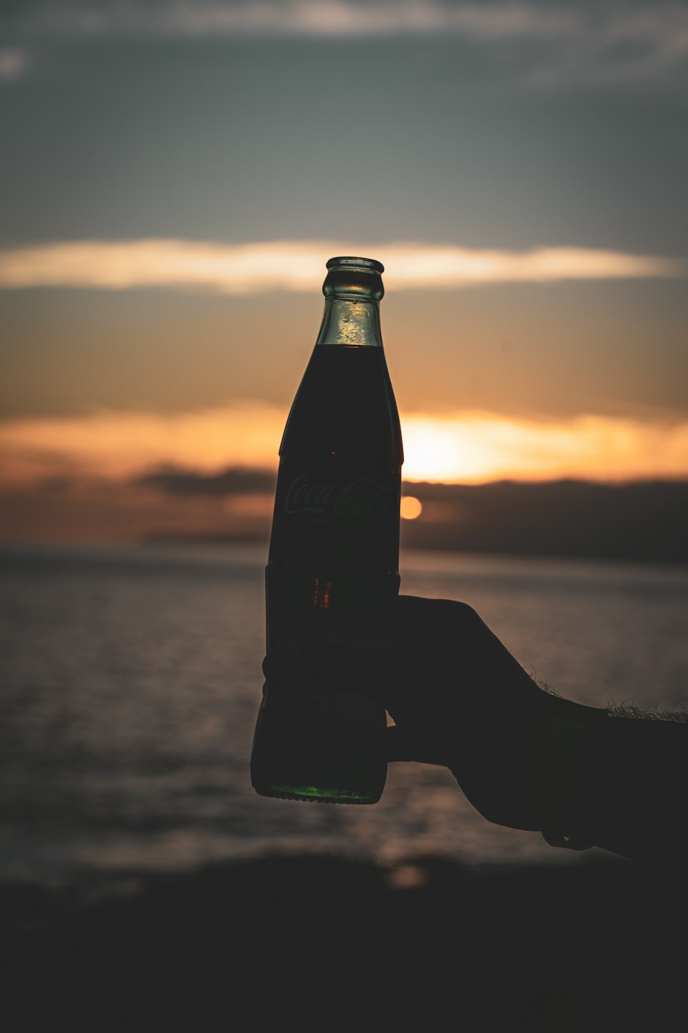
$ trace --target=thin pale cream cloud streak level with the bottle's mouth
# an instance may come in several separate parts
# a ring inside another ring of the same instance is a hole
[[[0,289],[136,287],[223,294],[313,291],[335,254],[381,259],[394,290],[453,289],[495,283],[549,283],[682,277],[682,259],[593,248],[495,251],[455,246],[342,241],[222,245],[176,240],[75,241],[0,250]]]

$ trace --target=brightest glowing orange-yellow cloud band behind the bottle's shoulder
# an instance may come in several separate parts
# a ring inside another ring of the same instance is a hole
[[[31,484],[97,477],[179,489],[193,470],[195,495],[218,495],[229,467],[273,471],[287,412],[244,401],[198,412],[102,412],[0,424],[0,479]],[[581,415],[572,419],[506,418],[489,412],[402,412],[406,480],[480,483],[498,478],[580,477],[624,481],[688,477],[688,421]],[[160,473],[160,471],[165,471]],[[158,471],[151,476],[151,471]],[[175,472],[176,471],[176,472]],[[267,481],[241,482],[261,493]]]

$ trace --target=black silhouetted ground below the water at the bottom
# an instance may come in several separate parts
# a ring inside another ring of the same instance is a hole
[[[685,1028],[685,896],[629,863],[274,857],[0,901],[12,1033]]]

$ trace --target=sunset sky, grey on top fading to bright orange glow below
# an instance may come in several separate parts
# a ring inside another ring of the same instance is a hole
[[[5,491],[272,468],[337,253],[407,479],[687,477],[687,116],[668,0],[5,2]]]

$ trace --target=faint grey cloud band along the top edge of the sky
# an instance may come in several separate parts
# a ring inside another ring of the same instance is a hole
[[[548,85],[657,79],[688,58],[688,10],[679,0],[43,0],[18,5],[5,28],[17,37],[83,39],[449,36],[506,44],[527,79]]]

